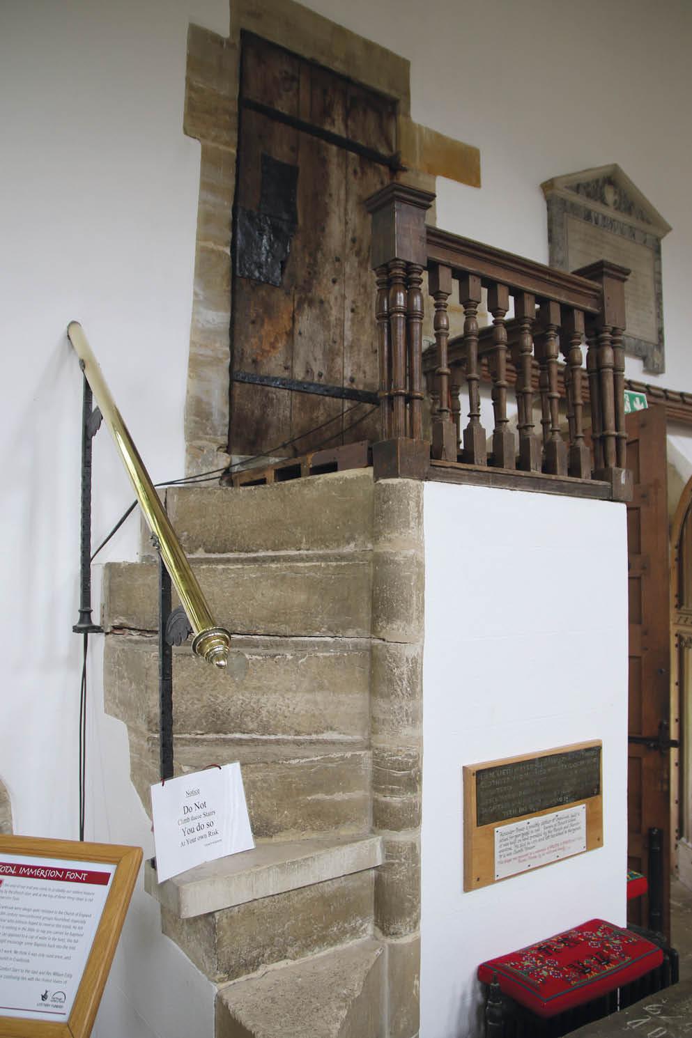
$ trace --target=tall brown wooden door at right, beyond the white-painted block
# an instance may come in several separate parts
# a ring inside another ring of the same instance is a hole
[[[630,564],[630,716],[628,857],[648,874],[648,831],[661,829],[663,903],[660,928],[669,933],[670,890],[670,627],[666,418],[662,407],[627,417]],[[648,743],[650,744],[647,744]],[[651,877],[649,877],[650,880]],[[646,924],[648,899],[630,902],[632,922]]]

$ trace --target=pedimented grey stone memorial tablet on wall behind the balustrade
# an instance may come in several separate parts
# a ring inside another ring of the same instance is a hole
[[[597,260],[631,271],[624,349],[644,371],[665,371],[661,240],[671,229],[616,163],[541,184],[548,203],[550,264],[574,271]]]

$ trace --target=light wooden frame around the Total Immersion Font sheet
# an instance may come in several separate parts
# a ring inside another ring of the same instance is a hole
[[[141,848],[79,843],[73,840],[46,840],[39,837],[0,836],[0,854],[3,852],[116,866],[70,1019],[57,1023],[55,1020],[0,1016],[0,1038],[88,1038],[139,874]]]

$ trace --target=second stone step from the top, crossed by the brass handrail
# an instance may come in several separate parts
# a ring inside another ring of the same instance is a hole
[[[192,566],[215,622],[234,633],[327,637],[370,634],[368,553],[321,558],[231,555],[218,556],[214,562],[192,559]],[[102,610],[106,631],[157,630],[157,565],[108,563],[104,567]]]

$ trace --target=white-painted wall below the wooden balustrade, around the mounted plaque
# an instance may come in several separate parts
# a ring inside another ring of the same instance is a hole
[[[479,962],[624,923],[626,511],[434,483],[424,508],[421,1038],[478,1038]],[[462,766],[587,739],[604,847],[463,893]]]

